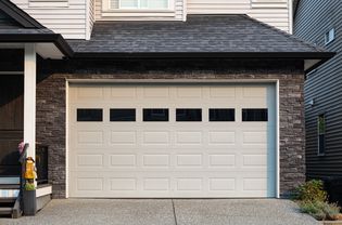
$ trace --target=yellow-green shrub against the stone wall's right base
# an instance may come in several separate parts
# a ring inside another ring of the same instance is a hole
[[[312,180],[295,188],[292,198],[304,202],[327,201],[328,194],[324,189],[324,182],[320,180]]]

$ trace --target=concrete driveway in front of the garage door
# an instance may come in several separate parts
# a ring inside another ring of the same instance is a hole
[[[315,225],[289,200],[67,199],[52,200],[34,217],[1,225]]]

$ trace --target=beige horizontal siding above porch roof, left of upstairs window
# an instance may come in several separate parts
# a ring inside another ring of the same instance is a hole
[[[86,0],[67,0],[62,2],[64,5],[51,4],[58,2],[49,0],[39,2],[11,1],[47,28],[63,35],[65,39],[86,39]],[[39,5],[33,3],[39,3]]]

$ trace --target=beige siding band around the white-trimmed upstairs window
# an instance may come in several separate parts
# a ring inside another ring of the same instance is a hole
[[[96,1],[96,21],[181,21],[183,19],[183,0],[174,0],[174,11],[115,10],[104,12],[103,0]]]

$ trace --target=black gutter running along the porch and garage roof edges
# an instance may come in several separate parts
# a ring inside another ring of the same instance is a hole
[[[72,58],[123,58],[123,59],[157,59],[157,58],[283,58],[283,59],[318,59],[308,72],[335,55],[334,52],[74,52],[60,34],[0,34],[0,42],[36,42],[54,43],[66,56]]]

